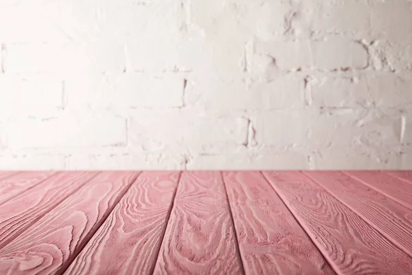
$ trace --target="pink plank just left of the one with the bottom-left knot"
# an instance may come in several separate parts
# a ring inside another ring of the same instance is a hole
[[[97,173],[58,173],[0,206],[0,249]]]

